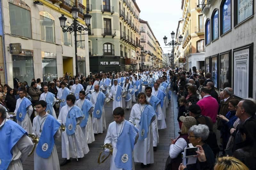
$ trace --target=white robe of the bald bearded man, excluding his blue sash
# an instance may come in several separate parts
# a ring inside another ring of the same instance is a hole
[[[90,101],[92,102],[93,107],[95,107],[99,93],[100,93],[100,90],[98,92],[95,91],[94,93],[92,93]],[[102,106],[102,115],[99,119],[97,119],[96,117],[93,117],[93,113],[92,113],[92,126],[93,126],[93,131],[96,134],[103,133],[103,129],[106,129],[106,127],[107,127],[106,120],[105,120],[105,110],[104,110],[105,101]]]

